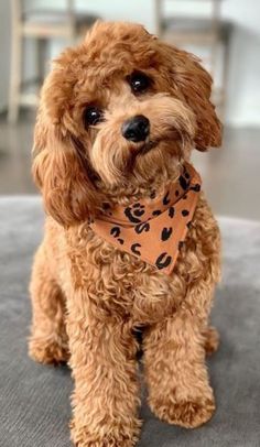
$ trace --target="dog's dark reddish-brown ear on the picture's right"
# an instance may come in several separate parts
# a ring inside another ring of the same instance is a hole
[[[159,45],[173,95],[184,100],[196,117],[195,148],[206,151],[220,146],[223,127],[210,102],[212,76],[194,55],[162,42]]]

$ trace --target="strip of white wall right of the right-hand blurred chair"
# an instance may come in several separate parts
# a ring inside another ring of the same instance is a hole
[[[224,1],[235,22],[227,118],[235,126],[260,126],[260,1]]]

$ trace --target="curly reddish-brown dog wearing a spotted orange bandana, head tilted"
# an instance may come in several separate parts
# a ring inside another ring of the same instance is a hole
[[[214,413],[205,353],[218,344],[208,317],[220,238],[188,163],[193,148],[220,144],[210,88],[194,56],[129,23],[97,23],[44,84],[33,173],[47,217],[30,356],[69,360],[76,446],[137,443],[137,327],[153,413],[184,427]]]

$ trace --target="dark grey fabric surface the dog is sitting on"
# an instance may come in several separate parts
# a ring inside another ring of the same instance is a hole
[[[28,282],[42,224],[37,197],[0,199],[0,447],[71,446],[69,370],[26,355]],[[143,399],[138,447],[260,446],[260,224],[220,219],[220,228],[224,277],[213,323],[221,345],[208,360],[217,412],[188,430],[158,421]]]

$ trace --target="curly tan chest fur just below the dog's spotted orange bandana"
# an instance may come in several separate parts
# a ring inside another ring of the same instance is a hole
[[[218,264],[219,232],[205,203],[197,209],[196,219],[198,229],[194,222],[171,275],[82,227],[69,238],[73,283],[90,299],[99,317],[129,318],[134,324],[161,320],[177,309],[194,281]]]

